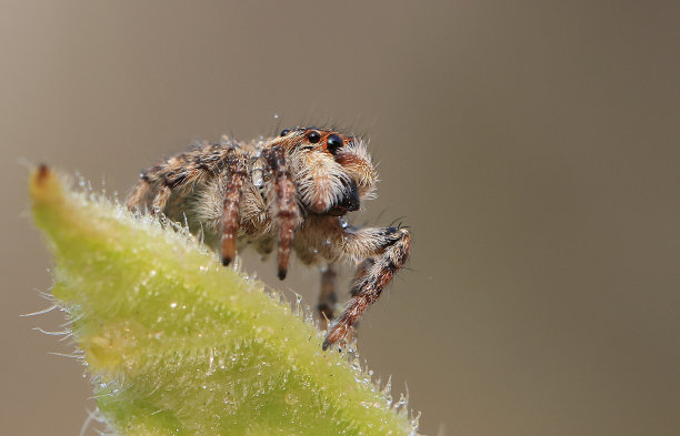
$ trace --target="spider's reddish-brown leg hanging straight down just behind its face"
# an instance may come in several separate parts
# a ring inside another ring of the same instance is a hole
[[[279,225],[279,251],[277,255],[279,278],[283,280],[288,272],[290,250],[292,247],[296,225],[300,219],[300,211],[296,202],[296,185],[288,171],[283,148],[271,148],[263,153],[263,156],[274,176],[276,213],[272,215],[276,216]]]

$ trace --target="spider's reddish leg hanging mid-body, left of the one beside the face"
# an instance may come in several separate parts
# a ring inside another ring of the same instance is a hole
[[[243,196],[243,181],[248,176],[246,160],[231,150],[227,159],[227,187],[224,190],[222,213],[222,264],[229,265],[236,254],[236,242],[239,232],[239,211]]]

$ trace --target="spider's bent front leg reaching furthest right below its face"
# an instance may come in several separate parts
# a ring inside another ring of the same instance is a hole
[[[343,235],[344,254],[363,258],[351,290],[351,300],[323,341],[327,349],[343,339],[361,314],[378,298],[397,271],[406,263],[411,251],[411,235],[401,227],[348,227]]]

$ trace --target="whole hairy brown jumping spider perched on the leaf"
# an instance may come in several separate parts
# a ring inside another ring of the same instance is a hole
[[[337,302],[333,263],[359,263],[351,300],[323,341],[327,349],[346,338],[409,256],[408,230],[358,229],[342,219],[373,196],[377,178],[366,142],[296,128],[250,144],[224,138],[174,155],[142,172],[128,207],[186,222],[224,265],[237,246],[252,244],[267,255],[276,242],[281,280],[291,250],[304,264],[321,264],[322,323],[333,318]]]

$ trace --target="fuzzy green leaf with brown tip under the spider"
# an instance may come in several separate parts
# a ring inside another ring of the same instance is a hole
[[[414,435],[358,358],[183,229],[31,174],[99,409],[121,435]],[[351,353],[349,353],[351,354]],[[389,385],[389,383],[388,383]],[[387,392],[386,392],[387,391]]]

